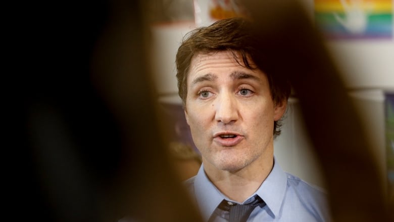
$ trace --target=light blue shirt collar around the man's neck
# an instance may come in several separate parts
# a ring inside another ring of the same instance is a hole
[[[280,168],[279,164],[275,163],[263,184],[256,191],[267,204],[275,217],[279,214],[282,205],[284,194],[287,186],[286,173]],[[208,179],[204,171],[204,165],[201,165],[194,181],[195,197],[202,213],[203,219],[208,221],[216,207],[220,204],[226,196],[223,195],[212,182]],[[253,194],[252,196],[254,196]]]

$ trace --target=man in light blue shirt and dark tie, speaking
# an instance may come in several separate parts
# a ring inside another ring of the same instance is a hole
[[[203,160],[185,184],[205,221],[329,221],[325,193],[274,159],[290,86],[264,72],[269,55],[250,25],[220,20],[178,49],[179,96]]]

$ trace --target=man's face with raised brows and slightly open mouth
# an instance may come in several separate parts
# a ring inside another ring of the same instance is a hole
[[[267,76],[240,66],[231,52],[199,54],[187,76],[185,115],[207,166],[235,171],[272,158],[275,106]]]

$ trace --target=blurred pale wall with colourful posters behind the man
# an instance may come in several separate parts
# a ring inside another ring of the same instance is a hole
[[[392,105],[388,98],[394,93],[394,1],[300,1],[325,36],[326,46],[343,73],[349,95],[359,108],[382,179],[387,181],[384,184],[392,186],[394,127],[389,119]],[[152,69],[160,95],[159,102],[167,111],[172,110],[168,115],[177,117],[174,118],[172,129],[179,136],[175,140],[189,143],[196,152],[185,126],[183,112],[179,111],[181,106],[175,78],[175,54],[182,37],[189,30],[209,25],[220,18],[244,13],[236,3],[163,0],[156,1],[152,8]],[[179,133],[180,126],[182,134]],[[338,130],[346,134],[346,129]],[[274,143],[275,157],[285,171],[324,187],[319,162],[306,134],[295,97],[289,99],[282,135]]]

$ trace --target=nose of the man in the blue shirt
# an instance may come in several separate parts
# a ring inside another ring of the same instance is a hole
[[[238,106],[236,99],[229,94],[221,95],[215,104],[215,119],[228,124],[238,120]]]

